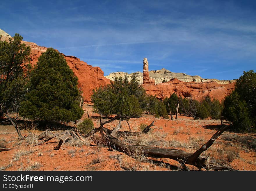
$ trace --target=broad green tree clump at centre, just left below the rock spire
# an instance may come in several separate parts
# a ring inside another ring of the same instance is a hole
[[[140,116],[143,111],[168,118],[167,111],[162,102],[154,96],[148,96],[142,85],[139,85],[136,76],[115,77],[106,87],[93,90],[91,96],[94,103],[94,111],[102,112],[103,115],[117,114]]]

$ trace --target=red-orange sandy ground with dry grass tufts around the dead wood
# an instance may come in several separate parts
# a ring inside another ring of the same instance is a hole
[[[87,111],[90,117],[94,121],[94,126],[99,127],[99,116],[97,113],[92,112],[92,106],[86,104],[84,106],[86,110],[83,118],[87,117]],[[188,152],[194,152],[195,149],[190,147],[191,140],[201,140],[201,145],[204,144],[209,138],[216,132],[214,127],[220,125],[218,120],[193,120],[191,117],[178,116],[177,120],[168,120],[160,117],[154,118],[153,115],[145,115],[139,119],[130,119],[129,124],[132,131],[140,131],[139,125],[141,123],[150,124],[155,121],[155,126],[151,130],[151,134],[158,138],[159,144],[164,141],[175,140],[180,144],[187,144],[187,148],[177,147],[177,149],[185,150]],[[105,124],[105,127],[112,129],[118,124],[118,121],[114,121],[110,124]],[[129,127],[125,121],[122,121],[121,131],[129,131]],[[34,134],[39,135],[42,131],[31,130]],[[22,135],[28,135],[28,131],[21,130]],[[54,133],[54,131],[52,131]],[[226,133],[226,134],[225,134]],[[238,170],[256,170],[256,153],[255,150],[246,146],[241,146],[236,141],[225,141],[223,136],[241,136],[241,137],[253,137],[256,138],[256,134],[238,134],[224,132],[209,148],[205,151],[204,155],[209,155],[214,158],[225,158],[225,152],[219,152],[221,154],[216,155],[216,151],[235,149],[239,155],[229,163],[234,169]],[[144,135],[143,135],[144,136]],[[150,135],[145,135],[150,136]],[[26,140],[19,141],[17,139],[17,132],[12,125],[0,125],[0,140],[9,142],[6,144],[7,148],[17,148],[10,151],[1,151],[0,154],[0,169],[1,170],[124,170],[120,167],[118,157],[121,157],[126,164],[126,167],[134,167],[136,170],[179,170],[180,165],[177,161],[160,158],[153,159],[160,161],[160,165],[153,162],[143,161],[142,163],[136,162],[131,157],[120,153],[118,151],[109,151],[106,147],[100,147],[94,144],[94,142],[88,139],[88,144],[82,146],[69,146],[65,143],[65,147],[54,150],[54,147],[58,144],[58,139],[52,139],[45,144],[41,144],[35,147],[30,147],[26,143]],[[90,143],[89,143],[90,142]],[[91,146],[91,145],[94,146]],[[157,145],[156,145],[157,146]],[[159,147],[159,146],[158,146]],[[26,154],[25,151],[30,151]],[[20,154],[20,157],[18,157]],[[151,159],[151,158],[149,158]],[[170,164],[166,165],[167,163]],[[188,165],[191,170],[198,170],[196,167]]]

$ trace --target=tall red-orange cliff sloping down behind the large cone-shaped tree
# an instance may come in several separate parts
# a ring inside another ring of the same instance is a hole
[[[4,41],[5,39],[11,38],[10,35],[2,31],[3,30],[0,29],[0,34],[2,35],[3,33],[5,38],[1,40]],[[38,58],[47,50],[47,47],[38,46],[33,42],[22,41],[22,43],[31,47],[30,63],[32,66],[35,66],[38,62]],[[104,77],[104,72],[99,67],[88,65],[86,62],[74,56],[66,56],[64,54],[63,56],[67,61],[67,65],[69,65],[70,69],[72,69],[74,74],[78,77],[78,87],[82,88],[83,98],[86,99],[87,102],[91,101],[90,97],[93,94],[93,89],[110,83],[110,80]]]

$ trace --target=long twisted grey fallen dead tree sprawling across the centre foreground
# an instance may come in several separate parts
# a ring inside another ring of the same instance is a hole
[[[100,132],[102,141],[105,142],[106,146],[114,150],[126,153],[127,155],[130,155],[130,156],[132,156],[133,151],[135,151],[136,148],[140,147],[142,154],[145,157],[170,158],[172,160],[178,161],[182,165],[184,170],[188,170],[188,167],[186,166],[186,164],[193,165],[198,169],[204,168],[204,169],[213,169],[213,170],[234,170],[232,167],[228,166],[227,164],[224,164],[220,160],[216,160],[208,156],[201,156],[201,153],[203,151],[206,151],[214,143],[214,141],[221,135],[221,133],[223,133],[228,128],[228,126],[224,126],[221,129],[219,129],[200,149],[195,151],[195,153],[189,153],[189,152],[178,150],[178,149],[166,149],[166,148],[150,147],[150,146],[137,145],[137,144],[129,145],[121,142],[118,139],[119,137],[142,135],[143,133],[147,133],[148,131],[150,131],[151,127],[154,126],[154,121],[153,121],[150,125],[144,128],[142,132],[119,131],[122,117],[124,116],[115,116],[110,120],[103,121],[101,116],[100,117],[101,126],[98,128],[94,128],[90,133],[86,135],[82,135],[76,127],[73,127],[72,129],[63,131],[58,134],[54,134],[46,130],[44,133],[38,136],[38,140],[41,140],[41,141],[34,144],[33,146],[40,145],[44,142],[51,140],[52,138],[63,135],[62,138],[60,138],[58,145],[54,147],[55,150],[58,150],[65,144],[67,138],[69,138],[70,136],[77,138],[81,142],[86,142],[86,138],[90,137],[91,135],[94,135],[97,132]],[[132,117],[137,117],[137,116],[132,116]],[[110,130],[104,127],[104,124],[113,122],[116,119],[119,119],[119,123],[113,130]],[[129,119],[129,118],[127,117],[126,119]]]

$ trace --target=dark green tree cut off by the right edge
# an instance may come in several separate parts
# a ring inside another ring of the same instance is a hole
[[[247,131],[256,124],[256,73],[243,72],[236,81],[234,91],[225,98],[223,116],[234,129]]]

